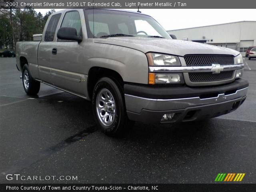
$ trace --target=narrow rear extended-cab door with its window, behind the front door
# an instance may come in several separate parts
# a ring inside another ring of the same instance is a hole
[[[40,80],[44,82],[52,83],[51,76],[51,56],[52,56],[52,46],[54,44],[54,35],[56,33],[56,28],[58,22],[60,21],[61,13],[54,14],[50,17],[50,20],[46,24],[47,27],[44,31],[44,36],[42,37],[42,42],[38,47],[38,73]]]

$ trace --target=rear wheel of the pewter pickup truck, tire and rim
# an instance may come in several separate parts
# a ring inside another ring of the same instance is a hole
[[[28,95],[36,95],[40,90],[40,82],[32,78],[28,64],[25,64],[22,68],[22,84]]]

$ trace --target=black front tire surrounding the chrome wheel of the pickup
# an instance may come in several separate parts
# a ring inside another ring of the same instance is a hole
[[[100,118],[100,115],[103,115],[103,112],[100,114],[101,112],[99,112],[96,107],[97,98],[104,90],[109,91],[111,98],[113,97],[114,99],[115,118],[113,118],[114,120],[112,120],[112,124],[108,126],[106,126],[104,124],[105,122]],[[134,126],[134,122],[130,121],[126,114],[122,89],[110,78],[103,77],[94,86],[92,94],[92,111],[98,127],[108,136],[123,137]]]

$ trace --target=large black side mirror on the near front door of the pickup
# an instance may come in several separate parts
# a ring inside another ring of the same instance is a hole
[[[82,37],[77,35],[76,29],[71,27],[60,28],[58,30],[57,37],[58,39],[64,39],[64,40],[73,40],[77,42],[82,41]]]

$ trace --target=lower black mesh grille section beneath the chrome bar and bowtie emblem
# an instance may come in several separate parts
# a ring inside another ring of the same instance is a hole
[[[234,71],[223,71],[218,74],[212,72],[188,73],[191,82],[212,82],[232,79]]]

